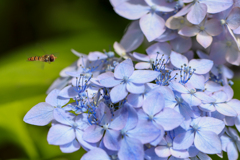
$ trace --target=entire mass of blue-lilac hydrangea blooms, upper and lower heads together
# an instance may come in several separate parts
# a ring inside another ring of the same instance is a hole
[[[134,20],[115,52],[72,50],[79,59],[24,121],[51,123],[48,143],[64,153],[82,147],[81,160],[206,160],[223,151],[238,159],[240,101],[228,66],[240,64],[240,1],[110,2]],[[134,52],[144,37],[146,54]]]

